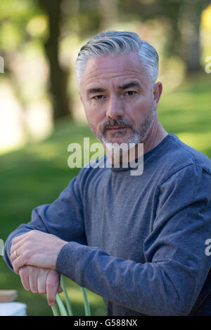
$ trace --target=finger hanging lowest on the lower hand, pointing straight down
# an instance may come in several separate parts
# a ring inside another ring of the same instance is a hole
[[[51,270],[46,278],[47,300],[50,306],[56,303],[56,293],[60,284],[60,274],[55,270]]]

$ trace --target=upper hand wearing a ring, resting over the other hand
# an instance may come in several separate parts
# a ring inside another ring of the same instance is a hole
[[[13,270],[19,275],[24,265],[56,269],[56,259],[68,242],[39,230],[31,230],[15,237],[11,246]]]

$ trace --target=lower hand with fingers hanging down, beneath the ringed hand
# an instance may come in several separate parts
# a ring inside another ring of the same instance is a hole
[[[19,274],[25,290],[33,293],[47,293],[50,306],[56,302],[56,293],[63,291],[59,286],[60,274],[56,270],[23,266],[20,268]]]

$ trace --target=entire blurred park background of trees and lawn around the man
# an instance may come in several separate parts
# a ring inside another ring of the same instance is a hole
[[[77,175],[68,145],[91,134],[79,100],[79,48],[105,29],[130,30],[160,55],[158,117],[169,133],[211,158],[211,2],[208,0],[1,0],[0,238],[35,206],[51,203]],[[207,69],[206,69],[207,67]],[[4,71],[4,72],[3,72]],[[65,279],[75,315],[82,293]],[[45,295],[27,292],[0,256],[0,289],[18,290],[27,315],[52,315]],[[106,315],[88,292],[92,315]],[[63,297],[62,297],[63,298]]]

